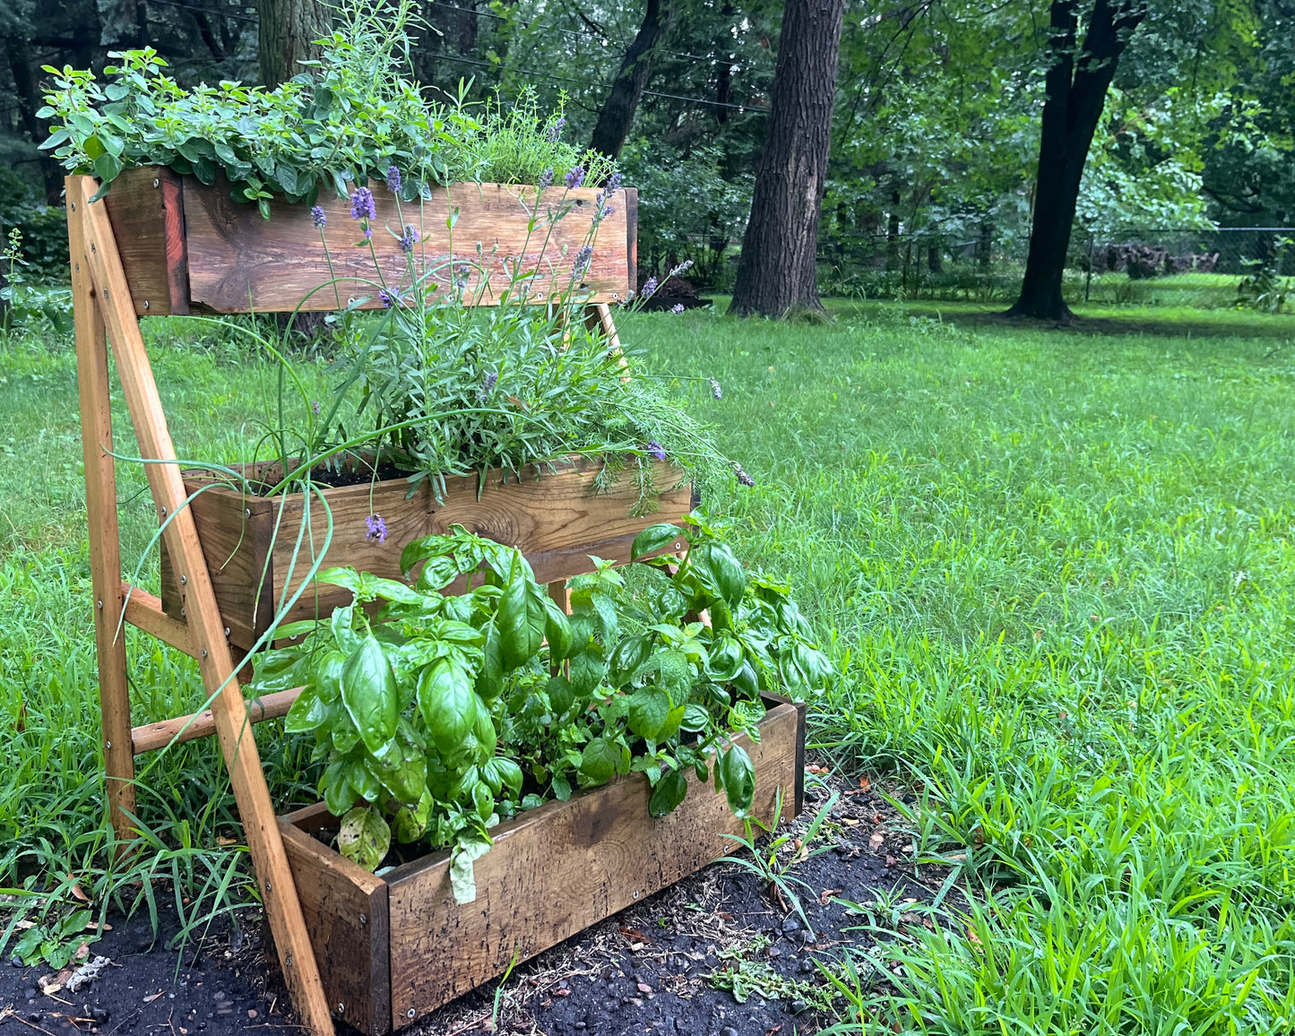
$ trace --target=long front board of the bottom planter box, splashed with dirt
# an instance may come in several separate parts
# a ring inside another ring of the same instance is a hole
[[[799,726],[795,706],[776,706],[761,742],[746,745],[765,822],[780,791],[790,816]],[[721,833],[741,834],[742,821],[714,786],[688,781],[682,804],[660,820],[648,813],[646,780],[633,776],[502,825],[475,864],[467,905],[455,903],[444,853],[388,874],[392,1027],[502,974],[514,953],[534,957],[732,851]]]

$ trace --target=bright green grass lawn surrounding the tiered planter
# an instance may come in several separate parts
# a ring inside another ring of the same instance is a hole
[[[912,787],[922,855],[976,904],[855,954],[866,1028],[840,1001],[842,1031],[1290,1030],[1295,352],[1257,317],[1103,335],[837,308],[622,330],[653,368],[723,382],[680,391],[756,487],[708,505],[842,667],[816,750]],[[255,365],[183,321],[152,344],[181,455],[236,458]],[[0,413],[6,884],[102,866],[102,811],[70,350],[0,351]],[[132,559],[141,488],[123,473]],[[136,721],[201,702],[186,660],[131,645]],[[303,749],[264,752],[276,794],[308,794]],[[159,864],[224,873],[214,746],[153,765]]]

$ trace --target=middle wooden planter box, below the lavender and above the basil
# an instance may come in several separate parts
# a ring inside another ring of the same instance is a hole
[[[268,467],[247,465],[242,474],[258,482]],[[488,471],[482,482],[477,475],[447,478],[440,501],[430,480],[423,479],[411,495],[404,478],[320,487],[308,506],[300,492],[245,495],[202,471],[185,473],[185,491],[192,496],[189,508],[229,642],[247,650],[316,559],[319,571],[352,565],[400,579],[405,544],[461,524],[517,546],[536,580],[556,583],[593,571],[591,554],[628,562],[635,536],[658,522],[679,523],[693,508],[692,484],[666,462],[653,464],[653,484],[660,492],[653,497],[657,510],[646,515],[631,514],[638,491],[628,474],[605,491],[598,487],[602,465],[596,461],[570,458],[554,469],[530,469],[521,479],[500,470]],[[180,620],[185,618],[184,591],[163,546],[162,607]],[[339,587],[307,587],[284,622],[328,615],[350,598]]]

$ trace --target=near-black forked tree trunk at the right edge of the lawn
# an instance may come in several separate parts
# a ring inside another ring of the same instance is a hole
[[[1076,57],[1080,0],[1053,0],[1050,65],[1045,80],[1033,225],[1020,297],[1008,316],[1070,320],[1062,275],[1088,149],[1102,118],[1106,89],[1129,38],[1146,16],[1138,0],[1096,0]]]

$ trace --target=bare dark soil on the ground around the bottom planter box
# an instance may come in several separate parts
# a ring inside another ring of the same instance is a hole
[[[897,927],[930,925],[922,905],[934,900],[948,875],[943,868],[914,868],[906,825],[881,795],[857,785],[835,790],[840,799],[815,846],[830,848],[791,870],[809,886],[793,887],[812,934],[791,904],[754,874],[736,864],[715,864],[521,965],[501,991],[499,983],[488,983],[403,1032],[817,1032],[835,1020],[824,1010],[831,996],[820,965],[837,966],[846,947],[874,944],[870,934],[853,930],[868,918],[847,903],[884,900],[887,905],[877,912]],[[793,833],[804,829],[828,794],[822,787],[809,790],[805,813]],[[786,851],[795,853],[790,844]],[[945,903],[965,904],[956,891]],[[13,1011],[0,1022],[0,1036],[30,1036],[30,1026],[53,1036],[76,1031],[216,1036],[293,1027],[277,963],[260,939],[250,935],[259,931],[256,910],[240,916],[242,927],[233,943],[228,923],[220,921],[212,926],[220,929],[218,936],[190,943],[183,957],[166,948],[177,930],[174,919],[163,921],[155,940],[146,917],[113,923],[114,930],[91,951],[110,957],[114,967],[79,996],[58,993],[69,1004],[41,995],[38,979],[49,969],[0,967],[0,1010]],[[736,998],[734,984],[745,1002]],[[146,1000],[155,993],[161,996]],[[497,1027],[492,1022],[496,993]],[[838,1008],[842,1004],[837,1001]],[[96,1015],[96,1010],[106,1014]],[[74,1023],[74,1018],[98,1020]]]

